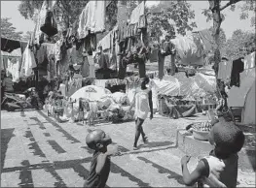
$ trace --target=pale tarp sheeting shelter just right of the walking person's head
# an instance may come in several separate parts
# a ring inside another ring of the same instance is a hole
[[[216,88],[214,76],[197,73],[195,77],[186,78],[184,73],[177,73],[174,77],[165,76],[164,79],[153,79],[158,94],[166,96],[203,97],[213,94]]]

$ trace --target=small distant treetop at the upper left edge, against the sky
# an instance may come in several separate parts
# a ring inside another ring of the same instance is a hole
[[[10,19],[10,17],[1,18],[1,37],[20,40],[22,32],[17,31],[17,28],[13,26],[13,23],[9,21]]]

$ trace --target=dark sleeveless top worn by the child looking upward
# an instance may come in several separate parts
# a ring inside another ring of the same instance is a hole
[[[91,170],[89,178],[86,180],[84,187],[105,187],[110,172],[110,158],[106,162],[100,174],[96,173],[97,157],[101,152],[95,151],[91,159]]]

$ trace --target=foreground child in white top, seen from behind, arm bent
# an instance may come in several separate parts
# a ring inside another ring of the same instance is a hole
[[[237,187],[238,151],[244,143],[242,131],[234,123],[218,122],[210,131],[209,142],[215,148],[199,161],[193,172],[187,167],[190,156],[181,159],[184,183],[193,186],[198,182],[198,187]]]

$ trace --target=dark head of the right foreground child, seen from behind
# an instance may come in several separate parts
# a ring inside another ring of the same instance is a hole
[[[226,159],[238,153],[244,143],[244,135],[234,123],[218,122],[211,128],[209,142],[215,145],[215,155]]]

